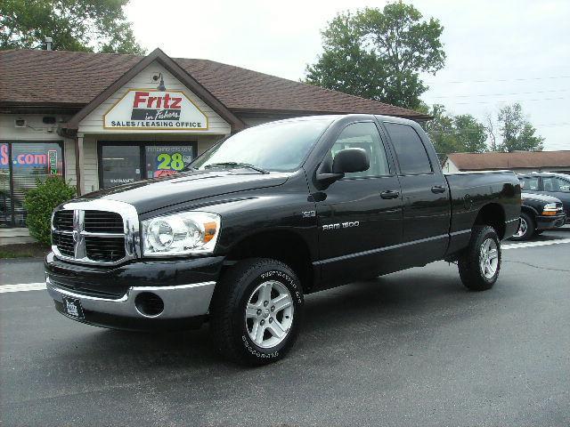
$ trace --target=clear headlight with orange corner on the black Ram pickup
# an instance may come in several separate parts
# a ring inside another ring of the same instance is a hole
[[[220,215],[184,212],[142,222],[144,256],[211,254],[220,232]]]

